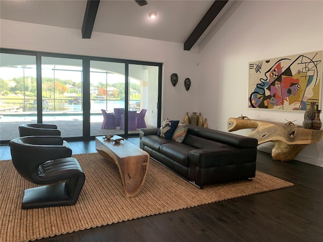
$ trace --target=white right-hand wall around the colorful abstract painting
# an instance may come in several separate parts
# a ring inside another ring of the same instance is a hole
[[[227,131],[227,119],[241,114],[286,123],[304,112],[247,108],[248,63],[323,50],[323,1],[243,1],[200,51],[201,73],[197,108],[210,128]],[[323,106],[323,103],[321,103]],[[321,119],[322,114],[321,114]],[[234,133],[247,135],[251,130]],[[273,143],[259,146],[271,152]],[[323,167],[323,139],[303,149],[296,160]]]

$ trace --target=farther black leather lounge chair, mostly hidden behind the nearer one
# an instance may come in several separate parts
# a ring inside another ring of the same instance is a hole
[[[61,131],[56,125],[47,124],[24,124],[18,127],[19,136],[39,136],[39,135],[55,135],[61,136]]]

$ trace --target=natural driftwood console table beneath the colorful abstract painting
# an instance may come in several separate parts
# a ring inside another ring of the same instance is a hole
[[[258,145],[274,142],[272,150],[274,160],[289,161],[307,145],[318,142],[323,136],[323,130],[304,129],[294,125],[282,125],[255,119],[228,119],[228,131],[255,129],[248,137],[258,140]]]

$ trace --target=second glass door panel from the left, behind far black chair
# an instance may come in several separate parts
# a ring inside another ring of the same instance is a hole
[[[42,120],[64,138],[83,136],[82,59],[41,57]]]

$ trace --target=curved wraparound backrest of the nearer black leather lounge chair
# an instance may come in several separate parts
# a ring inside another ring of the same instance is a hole
[[[72,150],[63,145],[60,136],[26,136],[10,141],[12,162],[18,173],[32,183],[38,183],[40,164],[72,156]]]

